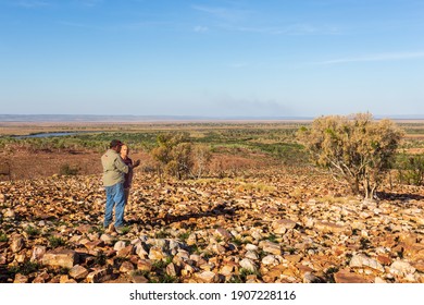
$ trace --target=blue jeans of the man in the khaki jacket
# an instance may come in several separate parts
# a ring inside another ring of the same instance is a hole
[[[112,222],[113,207],[115,207],[115,228],[124,225],[124,183],[116,183],[112,186],[104,186],[104,190],[107,193],[107,206],[104,210],[103,227],[107,228]]]

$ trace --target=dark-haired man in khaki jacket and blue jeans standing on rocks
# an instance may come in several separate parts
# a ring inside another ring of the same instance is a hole
[[[110,148],[101,157],[101,164],[103,166],[103,186],[107,195],[107,203],[104,209],[103,227],[109,232],[113,229],[117,233],[122,233],[124,227],[124,210],[125,210],[125,193],[124,181],[125,174],[128,173],[130,164],[124,163],[120,156],[122,142],[113,139]],[[113,207],[115,207],[115,223],[112,223]]]

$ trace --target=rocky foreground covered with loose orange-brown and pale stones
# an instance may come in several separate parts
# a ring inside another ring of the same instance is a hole
[[[424,188],[377,202],[311,169],[136,172],[123,234],[100,175],[0,182],[0,282],[424,282]]]

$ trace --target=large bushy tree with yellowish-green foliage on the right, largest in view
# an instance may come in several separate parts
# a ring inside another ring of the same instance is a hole
[[[347,182],[353,194],[372,199],[403,132],[390,120],[375,121],[370,113],[357,113],[317,118],[297,135],[315,164]]]

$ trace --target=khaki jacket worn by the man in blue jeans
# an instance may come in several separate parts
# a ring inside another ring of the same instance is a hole
[[[101,156],[101,164],[103,166],[103,186],[124,183],[124,176],[128,173],[129,168],[121,159],[120,154],[113,149],[108,149]]]

